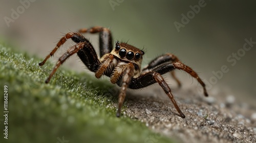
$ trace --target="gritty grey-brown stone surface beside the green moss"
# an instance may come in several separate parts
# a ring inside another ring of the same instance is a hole
[[[204,97],[195,89],[196,85],[174,89],[185,119],[177,115],[157,84],[144,90],[130,90],[124,116],[140,120],[159,133],[145,142],[158,142],[163,135],[180,142],[256,142],[255,106],[221,92]]]

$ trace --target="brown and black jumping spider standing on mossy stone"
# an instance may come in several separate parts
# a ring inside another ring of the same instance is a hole
[[[91,34],[99,33],[100,59],[98,59],[97,53],[89,40],[81,35],[82,33],[87,32]],[[145,68],[141,69],[144,51],[119,41],[116,41],[115,48],[113,49],[111,31],[108,28],[101,26],[82,28],[79,32],[67,33],[59,40],[56,47],[46,56],[45,60],[39,63],[39,66],[44,65],[46,61],[54,55],[56,50],[68,39],[72,39],[76,45],[70,47],[67,52],[60,56],[45,82],[48,83],[59,66],[71,55],[76,53],[83,64],[86,65],[90,71],[95,72],[96,78],[100,78],[102,75],[108,76],[113,84],[116,83],[121,87],[118,96],[117,117],[120,117],[121,115],[121,107],[126,96],[127,88],[141,89],[148,85],[158,83],[173,102],[179,116],[185,118],[185,115],[182,113],[174,99],[168,84],[161,76],[162,74],[170,72],[180,87],[181,83],[174,74],[175,69],[183,70],[196,78],[203,87],[204,95],[208,96],[205,84],[198,74],[190,67],[181,63],[174,54],[166,53],[158,56]]]

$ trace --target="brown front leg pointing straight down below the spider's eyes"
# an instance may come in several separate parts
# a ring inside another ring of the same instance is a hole
[[[120,84],[121,90],[120,90],[120,93],[118,96],[118,109],[117,109],[117,113],[116,113],[117,117],[120,117],[120,115],[121,115],[121,108],[122,108],[123,101],[126,96],[126,89],[128,88],[131,78],[134,74],[134,65],[132,63],[129,63],[129,64],[125,65],[125,67],[123,68],[122,71],[123,72],[121,74],[123,76],[122,76],[122,82]],[[118,70],[116,72],[118,72]],[[119,75],[116,75],[116,76],[119,76]]]

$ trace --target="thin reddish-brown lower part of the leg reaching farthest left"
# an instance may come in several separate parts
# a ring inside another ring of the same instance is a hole
[[[54,55],[54,53],[57,51],[57,49],[63,45],[68,39],[72,39],[74,42],[79,43],[79,42],[84,42],[83,40],[85,40],[83,38],[82,35],[80,35],[79,33],[67,33],[64,37],[62,37],[59,42],[57,43],[56,47],[46,56],[45,60],[42,61],[41,63],[39,63],[39,66],[42,66],[46,63],[46,61]]]

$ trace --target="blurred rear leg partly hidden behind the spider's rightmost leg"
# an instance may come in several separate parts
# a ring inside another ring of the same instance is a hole
[[[142,72],[146,70],[152,70],[156,68],[157,66],[164,64],[164,63],[173,63],[173,62],[180,62],[180,60],[177,58],[176,55],[171,54],[171,53],[166,53],[163,55],[158,56],[154,60],[152,60],[145,68],[142,69]],[[175,72],[171,71],[170,74],[173,76],[173,78],[176,80],[178,83],[178,87],[181,87],[181,82],[180,80],[176,77]]]

